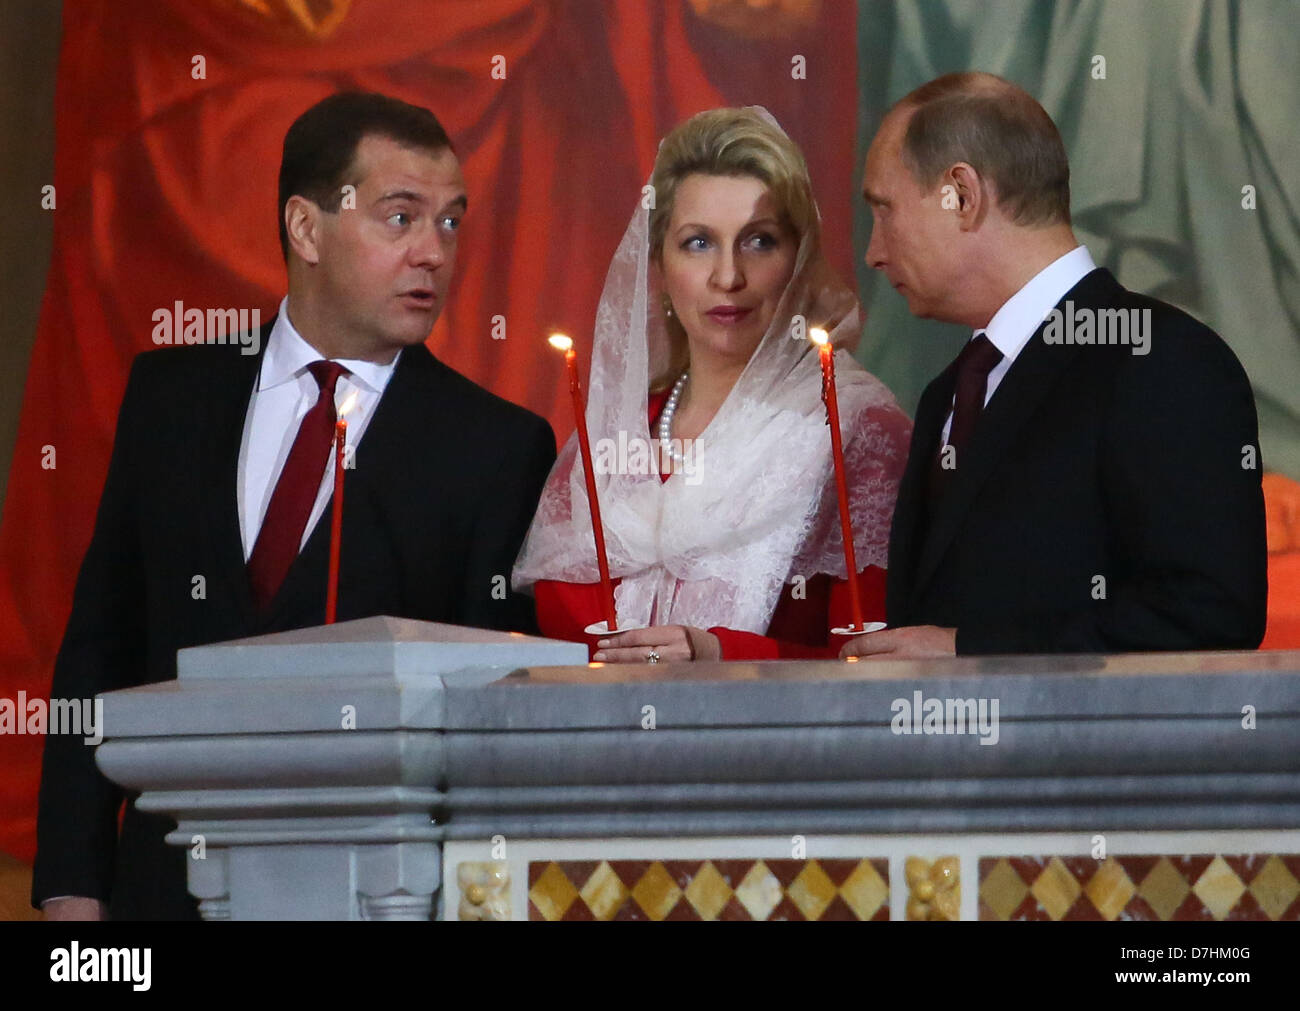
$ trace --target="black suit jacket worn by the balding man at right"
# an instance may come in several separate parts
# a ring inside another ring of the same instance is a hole
[[[927,521],[954,368],[930,383],[894,512],[889,624],[956,628],[958,654],[1257,647],[1268,548],[1240,363],[1105,269],[1067,300],[1149,309],[1149,353],[1048,344],[1039,327]]]

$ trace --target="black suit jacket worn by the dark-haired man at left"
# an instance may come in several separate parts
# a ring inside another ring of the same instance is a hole
[[[257,355],[194,346],[135,359],[53,697],[165,681],[186,646],[324,622],[332,506],[265,617],[244,568],[237,468],[269,333]],[[532,629],[530,598],[498,599],[499,587],[508,591],[554,460],[546,421],[422,344],[406,348],[347,476],[338,620]],[[205,599],[195,599],[195,576]],[[122,800],[79,737],[47,738],[32,902],[87,895],[109,901],[114,917],[195,917],[186,851],[162,841],[176,823],[138,812],[127,797],[118,839]]]

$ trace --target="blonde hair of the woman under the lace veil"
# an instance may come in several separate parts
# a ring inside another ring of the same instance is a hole
[[[809,259],[820,251],[822,230],[812,181],[803,153],[779,127],[754,109],[708,109],[692,116],[659,146],[650,209],[650,256],[663,260],[663,243],[672,220],[677,187],[688,175],[749,175],[772,191],[784,222],[800,242],[807,239]],[[676,317],[666,320],[671,355],[668,368],[651,378],[650,389],[671,383],[686,365],[686,331]]]

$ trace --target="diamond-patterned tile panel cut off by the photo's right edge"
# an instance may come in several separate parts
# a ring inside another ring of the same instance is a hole
[[[979,862],[982,920],[1300,920],[1300,856],[1002,856]]]

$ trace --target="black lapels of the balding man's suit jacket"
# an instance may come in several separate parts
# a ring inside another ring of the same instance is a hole
[[[1070,291],[1061,296],[1057,308],[1067,300],[1083,304],[1096,304],[1104,300],[1108,287],[1118,287],[1115,279],[1108,270],[1097,269],[1088,273]],[[953,473],[948,491],[944,495],[939,509],[935,512],[924,535],[920,550],[920,560],[915,569],[915,580],[911,585],[911,600],[914,602],[942,561],[971,503],[975,500],[980,487],[992,474],[993,469],[1014,446],[1024,425],[1030,422],[1043,399],[1048,395],[1057,378],[1074,360],[1079,352],[1079,344],[1053,344],[1043,340],[1043,330],[1046,321],[1039,324],[1034,337],[1017,356],[1006,376],[997,386],[997,392],[989,400],[988,407],[980,416],[975,431],[971,434],[962,459],[958,460],[957,470]],[[949,366],[952,370],[953,366]],[[944,373],[948,374],[946,372]],[[942,377],[941,377],[942,378]],[[949,379],[948,398],[942,402],[949,405],[952,399],[952,383]],[[937,381],[936,381],[937,385]],[[940,428],[946,417],[946,409],[940,412]],[[933,452],[937,447],[937,434],[928,444]],[[909,459],[909,469],[913,461]],[[920,461],[920,477],[930,465],[930,459]],[[923,507],[922,507],[923,508]]]

